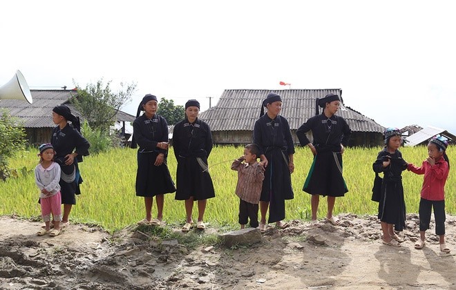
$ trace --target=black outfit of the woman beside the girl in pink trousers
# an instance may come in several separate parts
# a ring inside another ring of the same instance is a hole
[[[91,144],[88,143],[86,138],[82,137],[73,126],[66,124],[60,130],[59,126],[53,129],[50,144],[53,144],[56,152],[54,156],[55,162],[60,165],[60,187],[61,187],[61,203],[62,204],[76,204],[75,194],[80,194],[79,184],[82,184],[82,177],[79,174],[78,162],[82,162],[82,156],[88,155],[88,148]],[[65,165],[65,156],[77,153],[73,164]]]

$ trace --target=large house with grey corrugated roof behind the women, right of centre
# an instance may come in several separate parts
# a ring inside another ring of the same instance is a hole
[[[260,106],[268,93],[281,95],[281,115],[286,117],[295,142],[296,130],[315,115],[315,98],[328,93],[342,95],[340,89],[319,90],[225,90],[216,106],[200,113],[200,118],[211,127],[216,144],[247,144],[251,142],[254,123],[260,115]],[[349,107],[339,109],[337,115],[345,118],[352,129],[350,146],[377,146],[382,143],[384,127]],[[309,133],[309,137],[312,134]]]

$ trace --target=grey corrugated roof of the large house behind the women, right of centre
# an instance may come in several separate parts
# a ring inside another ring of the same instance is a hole
[[[296,130],[315,115],[315,98],[329,93],[342,95],[339,88],[291,89],[291,90],[225,90],[216,106],[200,113],[200,118],[211,127],[211,131],[253,130],[260,115],[263,100],[269,93],[281,96],[281,115],[287,118],[290,129]],[[355,132],[383,133],[384,127],[349,107],[339,109],[337,115],[347,120]]]

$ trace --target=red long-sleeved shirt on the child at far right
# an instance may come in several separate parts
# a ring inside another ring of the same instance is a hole
[[[440,158],[431,166],[428,160],[424,160],[421,167],[408,164],[407,169],[417,174],[424,174],[421,198],[425,200],[445,200],[445,182],[448,177],[448,163]]]

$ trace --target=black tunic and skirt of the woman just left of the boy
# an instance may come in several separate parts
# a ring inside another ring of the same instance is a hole
[[[176,200],[207,200],[215,197],[207,158],[212,150],[209,125],[196,119],[175,124],[173,130],[175,159],[178,160]]]

